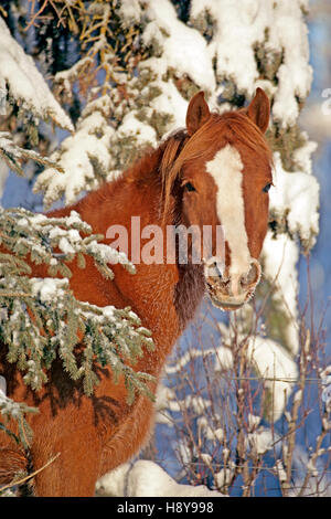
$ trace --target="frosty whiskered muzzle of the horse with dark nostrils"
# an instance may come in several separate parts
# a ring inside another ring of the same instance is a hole
[[[217,258],[205,262],[204,275],[207,292],[213,305],[222,310],[237,310],[254,295],[259,283],[261,268],[257,260],[252,258],[247,273],[228,275],[228,268],[222,268]]]

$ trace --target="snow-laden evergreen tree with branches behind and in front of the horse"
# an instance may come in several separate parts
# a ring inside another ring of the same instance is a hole
[[[33,161],[29,174],[45,208],[58,200],[73,203],[120,174],[147,145],[184,126],[188,102],[200,89],[218,112],[241,108],[258,86],[266,91],[276,189],[258,297],[268,340],[256,332],[249,306],[235,325],[243,337],[249,331],[247,358],[266,377],[261,343],[279,360],[274,374],[276,369],[278,377],[297,375],[297,264],[319,231],[314,144],[298,126],[312,77],[307,10],[308,0],[4,0],[0,7],[0,156],[19,174],[26,174],[26,161]],[[62,128],[60,142],[50,124]],[[0,172],[6,176],[8,169]],[[88,393],[95,383],[93,354],[127,375],[131,395],[143,390],[143,374],[139,379],[124,362],[152,347],[139,318],[129,309],[82,304],[65,279],[56,278],[57,273],[70,276],[74,256],[83,265],[84,254],[111,277],[100,237],[77,214],[56,221],[17,209],[2,210],[0,218],[1,243],[12,253],[0,255],[0,332],[25,382],[35,389],[45,382],[56,350]],[[65,243],[61,258],[53,253],[60,243]],[[28,277],[28,253],[49,265],[49,278]],[[132,268],[129,262],[126,266]],[[224,327],[225,338],[232,326]],[[46,335],[41,337],[40,329]],[[81,364],[74,356],[77,329],[86,338]],[[278,398],[277,410],[267,411],[270,419],[279,417],[291,388],[269,384],[269,398]]]

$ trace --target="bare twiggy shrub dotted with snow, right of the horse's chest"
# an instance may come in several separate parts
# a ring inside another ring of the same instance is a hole
[[[306,319],[295,362],[263,332],[205,310],[164,371],[152,459],[224,495],[330,496],[330,366],[322,328],[312,337]]]

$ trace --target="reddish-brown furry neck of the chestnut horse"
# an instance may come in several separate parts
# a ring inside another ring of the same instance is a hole
[[[75,210],[82,220],[92,225],[94,233],[104,235],[110,225],[122,225],[128,231],[130,257],[131,216],[139,216],[141,230],[146,225],[158,225],[163,236],[167,236],[167,225],[172,225],[174,220],[178,223],[173,208],[169,208],[166,219],[162,215],[162,187],[158,178],[161,159],[162,148],[159,148],[118,180],[104,184],[75,205],[51,214],[65,216]],[[203,272],[200,265],[167,264],[166,261],[163,264],[140,263],[136,266],[137,274],[134,276],[114,266],[115,283],[154,338],[160,335],[166,357],[201,301],[204,294]],[[164,338],[167,328],[168,345]]]

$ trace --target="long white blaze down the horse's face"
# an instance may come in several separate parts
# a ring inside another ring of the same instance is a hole
[[[248,273],[252,262],[245,226],[243,168],[239,152],[231,145],[224,146],[206,163],[206,171],[217,186],[217,214],[231,252],[233,295],[238,294],[241,276]]]

